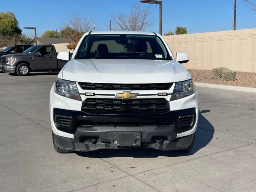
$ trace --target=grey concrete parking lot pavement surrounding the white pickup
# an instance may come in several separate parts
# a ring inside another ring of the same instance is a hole
[[[58,154],[49,92],[58,73],[0,73],[0,191],[256,191],[256,94],[198,88],[193,150]]]

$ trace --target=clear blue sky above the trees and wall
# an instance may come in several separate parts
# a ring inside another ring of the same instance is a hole
[[[188,33],[231,30],[234,18],[234,0],[162,0],[163,34],[176,26],[184,26]],[[110,14],[128,13],[131,4],[140,0],[12,0],[1,2],[0,12],[11,11],[16,15],[20,28],[36,27],[37,35],[46,30],[58,30],[68,17],[78,12],[94,20],[96,30],[108,30]],[[236,0],[236,29],[256,28],[256,12],[244,0]],[[159,6],[150,6],[155,24],[147,31],[159,32]],[[34,31],[22,29],[32,36]]]

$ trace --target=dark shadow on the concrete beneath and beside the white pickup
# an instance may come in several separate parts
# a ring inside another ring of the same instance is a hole
[[[129,149],[102,149],[90,152],[76,152],[78,156],[90,158],[111,158],[111,157],[133,157],[133,158],[156,158],[158,156],[178,157],[190,156],[204,148],[213,138],[214,127],[202,115],[202,113],[210,112],[210,110],[202,110],[199,112],[198,122],[203,127],[197,127],[194,147],[190,152],[179,151],[161,151],[150,148],[129,148]]]

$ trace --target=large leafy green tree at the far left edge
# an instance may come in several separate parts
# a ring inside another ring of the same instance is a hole
[[[19,22],[12,12],[0,12],[1,35],[21,34],[22,30],[20,29],[18,24]]]

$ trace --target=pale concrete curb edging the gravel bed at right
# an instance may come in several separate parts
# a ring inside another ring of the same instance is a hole
[[[232,91],[244,91],[244,92],[256,93],[256,88],[251,88],[251,87],[218,85],[218,84],[198,83],[198,82],[195,82],[195,85],[198,86],[198,87],[208,87],[208,88],[216,88],[216,89],[225,89],[225,90],[232,90]]]

